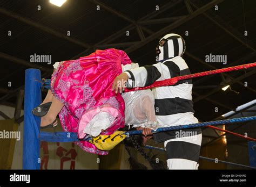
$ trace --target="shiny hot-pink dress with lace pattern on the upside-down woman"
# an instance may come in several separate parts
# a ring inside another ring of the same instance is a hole
[[[122,73],[121,64],[130,63],[127,54],[118,49],[97,50],[78,60],[60,62],[52,74],[51,91],[64,104],[59,113],[64,131],[77,132],[78,138],[83,139],[85,126],[99,110],[108,112],[114,119],[101,134],[112,134],[124,127],[124,100],[112,91],[112,83]],[[108,154],[90,142],[76,143],[86,152]]]

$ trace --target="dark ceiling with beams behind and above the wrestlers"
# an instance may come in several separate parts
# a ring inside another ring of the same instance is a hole
[[[99,48],[118,48],[142,66],[155,62],[161,36],[178,33],[186,41],[184,59],[191,73],[255,62],[255,6],[253,0],[68,0],[59,8],[45,0],[1,0],[0,102],[16,103],[27,68],[43,67],[42,74],[50,78],[52,64],[29,62],[35,53],[49,54],[55,62],[85,56]],[[206,63],[205,55],[210,53],[227,55],[227,64]],[[255,70],[194,78],[196,117],[212,120],[255,99]],[[223,80],[234,82],[231,88],[240,93],[222,91]]]

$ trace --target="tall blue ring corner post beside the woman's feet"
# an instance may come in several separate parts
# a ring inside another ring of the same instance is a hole
[[[33,116],[32,109],[41,104],[41,71],[25,70],[24,95],[24,135],[23,135],[23,169],[39,169],[40,123],[39,117]]]

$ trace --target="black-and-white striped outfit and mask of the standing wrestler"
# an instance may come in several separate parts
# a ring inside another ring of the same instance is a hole
[[[166,42],[163,47],[159,47],[161,53],[158,63],[126,71],[128,82],[133,87],[145,87],[155,81],[190,74],[190,69],[181,57],[185,51],[184,40],[177,34],[167,34],[162,39],[166,39]],[[194,117],[192,87],[192,80],[184,80],[152,90],[160,127],[198,123]],[[169,169],[198,168],[201,129],[156,133],[154,140],[157,143],[164,142]]]

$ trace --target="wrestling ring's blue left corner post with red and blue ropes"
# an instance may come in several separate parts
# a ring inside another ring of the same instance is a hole
[[[153,84],[143,88],[133,88],[133,89],[126,88],[125,91],[136,91],[136,90],[144,90],[144,89],[150,89],[150,88],[156,88],[156,87],[164,87],[167,85],[176,84],[180,80],[187,80],[190,78],[219,74],[219,73],[224,73],[228,71],[235,71],[235,70],[247,69],[252,67],[256,67],[256,62],[249,63],[249,64],[242,64],[240,66],[235,66],[235,67],[228,67],[223,69],[204,71],[196,74],[173,77],[164,81],[154,82]],[[26,69],[25,70],[25,97],[24,97],[25,105],[24,105],[23,169],[39,169],[40,168],[40,162],[38,162],[39,153],[40,153],[40,141],[48,141],[48,142],[80,141],[80,139],[77,138],[77,134],[74,132],[50,133],[50,132],[40,131],[41,119],[39,117],[33,116],[31,111],[34,107],[41,104],[42,87],[49,89],[50,80],[46,80],[44,81],[44,84],[42,84],[41,71],[39,69]],[[208,128],[214,128],[215,130],[218,130],[218,131],[223,131],[225,133],[230,133],[230,134],[239,136],[241,138],[245,138],[246,140],[250,140],[251,142],[256,142],[256,139],[254,138],[250,138],[248,136],[244,136],[241,134],[237,134],[231,131],[226,131],[221,128],[215,127],[216,125],[228,125],[228,124],[242,123],[245,121],[253,121],[253,120],[256,120],[256,116],[216,120],[216,121],[206,121],[206,122],[197,123],[197,124],[182,124],[178,126],[158,128],[156,131],[152,130],[152,132],[158,133],[158,132],[164,132],[164,131],[181,130],[185,128],[208,127]],[[128,131],[125,134],[126,135],[142,134],[142,131]],[[159,148],[159,147],[145,146],[144,148],[157,149],[160,151],[164,151],[163,148]],[[203,156],[200,156],[200,159],[205,159],[213,162],[215,161],[214,159],[203,157]],[[226,161],[220,161],[220,160],[218,162],[231,164],[233,166],[256,169],[256,167],[245,166],[238,163],[232,163],[232,162],[226,162]]]

